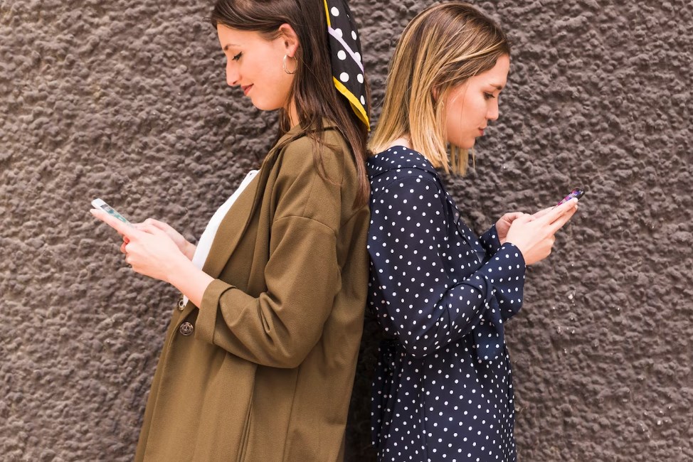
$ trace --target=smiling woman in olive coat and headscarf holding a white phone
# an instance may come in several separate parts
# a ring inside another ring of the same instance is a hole
[[[339,461],[366,301],[368,87],[342,0],[218,0],[228,85],[279,139],[197,246],[123,235],[135,272],[182,293],[137,461]]]

